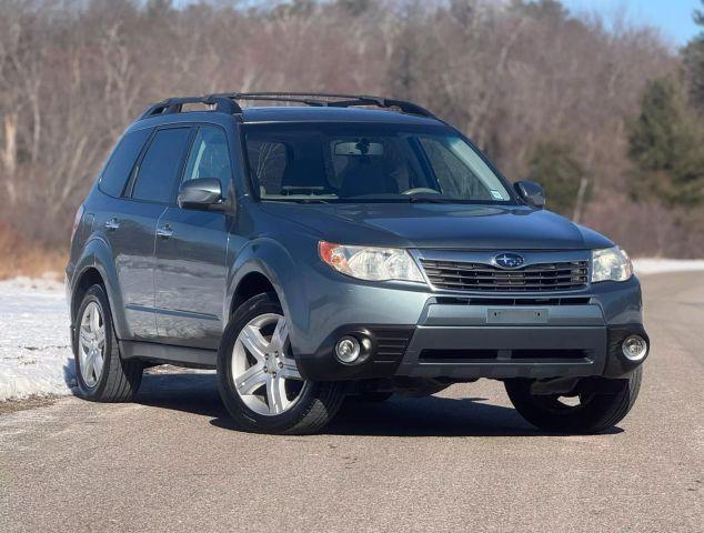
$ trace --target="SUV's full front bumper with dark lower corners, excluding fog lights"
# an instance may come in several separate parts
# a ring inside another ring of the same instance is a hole
[[[393,309],[399,309],[394,292],[403,296],[399,312]],[[630,361],[621,350],[630,334],[647,340],[635,278],[540,298],[410,294],[368,285],[354,291],[348,286],[346,293],[354,308],[328,313],[326,323],[338,319],[332,331],[328,330],[316,350],[298,351],[306,379],[623,378],[645,359]],[[395,315],[418,319],[399,323],[393,321]],[[371,353],[359,364],[343,364],[333,354],[336,340],[346,334],[372,341]]]

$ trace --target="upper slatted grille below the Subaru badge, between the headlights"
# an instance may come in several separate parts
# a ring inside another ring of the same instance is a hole
[[[421,260],[430,282],[451,291],[573,291],[586,286],[587,262],[539,263],[515,270],[492,264]]]

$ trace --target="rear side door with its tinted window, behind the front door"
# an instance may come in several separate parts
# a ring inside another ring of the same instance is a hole
[[[181,175],[191,128],[162,128],[153,134],[128,187],[122,214],[115,220],[115,264],[131,336],[153,340],[154,240],[157,222],[173,197]]]

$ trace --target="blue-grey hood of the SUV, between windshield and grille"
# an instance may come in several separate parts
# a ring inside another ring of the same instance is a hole
[[[564,217],[520,205],[263,202],[270,215],[341,244],[419,249],[585,250],[613,243]]]

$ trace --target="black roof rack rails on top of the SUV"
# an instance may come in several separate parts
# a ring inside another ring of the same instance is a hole
[[[204,97],[169,98],[149,108],[142,113],[139,120],[160,114],[180,113],[182,112],[183,104],[187,103],[214,105],[214,111],[217,112],[240,114],[242,113],[242,108],[238,103],[238,100],[304,103],[305,105],[329,108],[375,105],[386,109],[398,108],[404,113],[418,114],[431,119],[436,118],[429,110],[413,102],[371,97],[368,94],[338,94],[328,92],[223,92]]]

